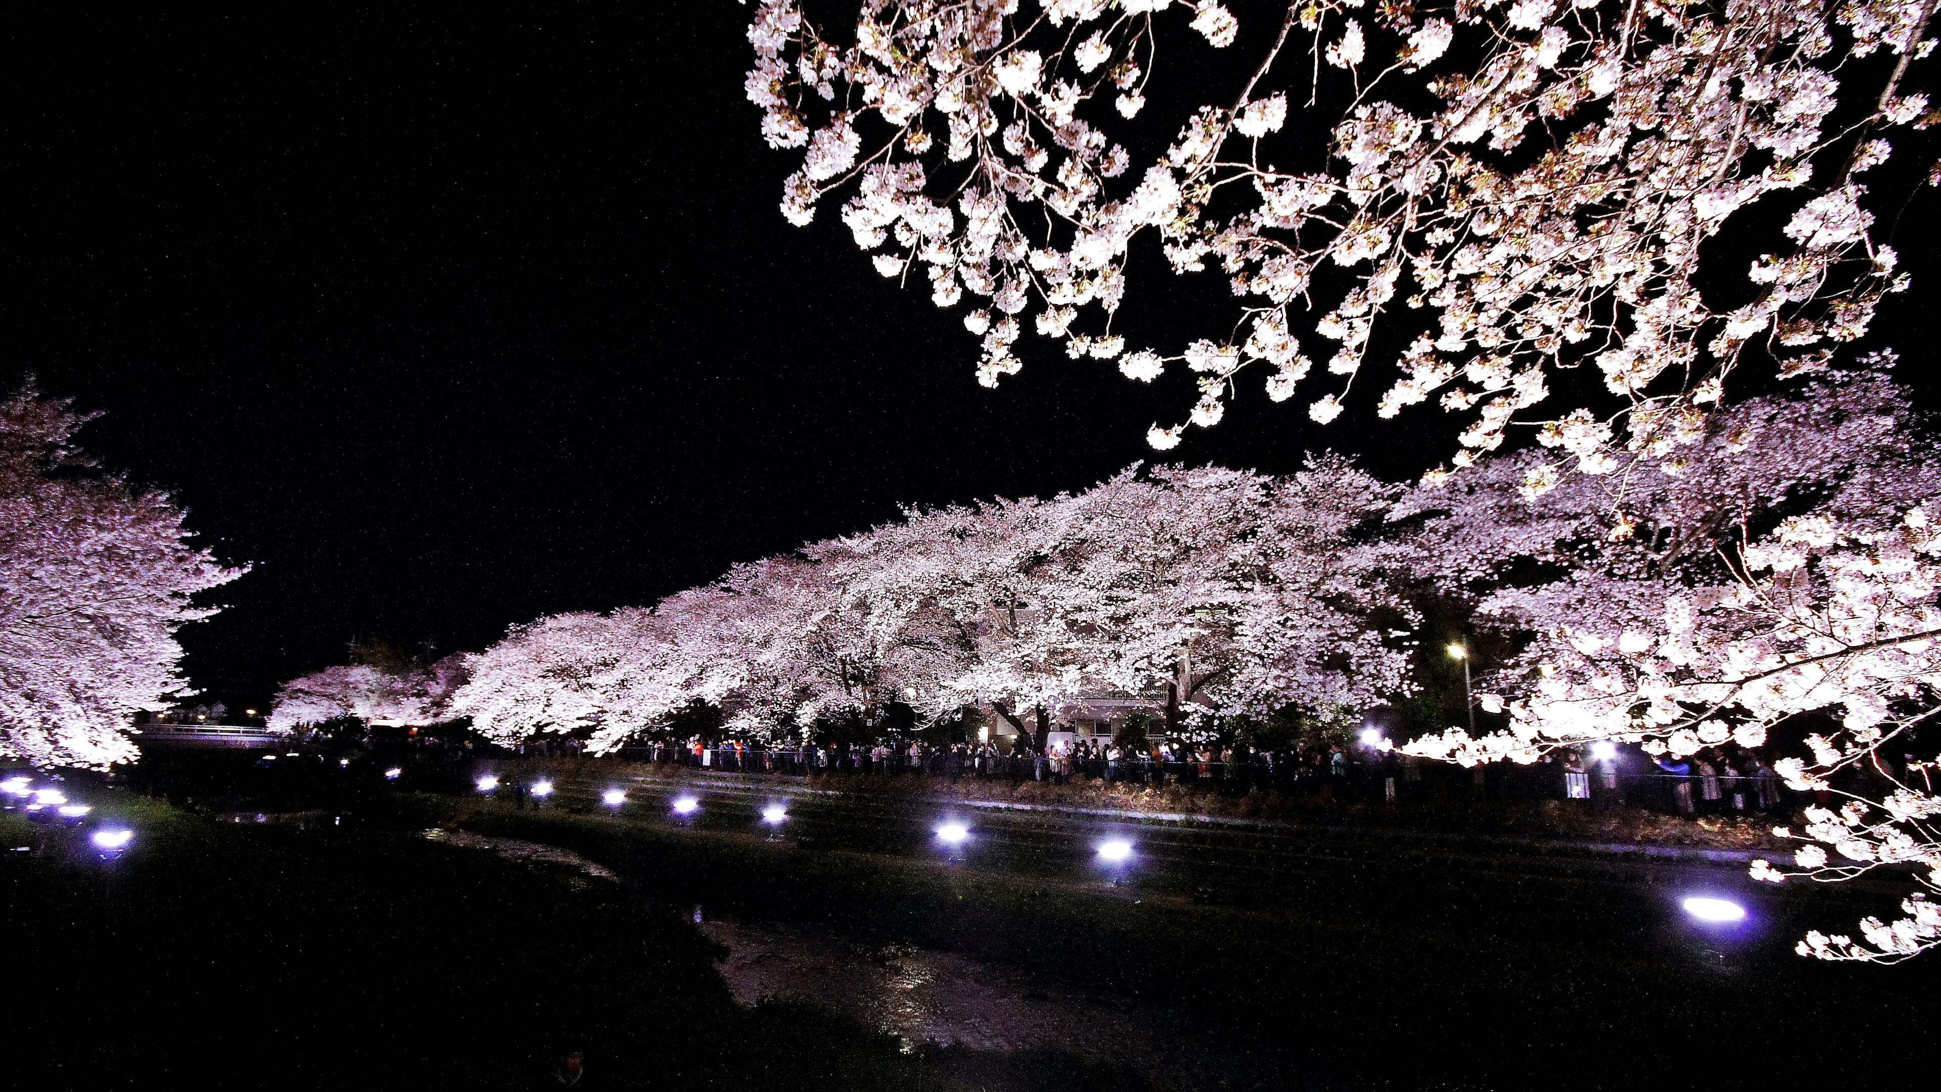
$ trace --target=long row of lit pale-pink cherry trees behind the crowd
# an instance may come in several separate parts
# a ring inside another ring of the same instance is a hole
[[[1091,698],[1209,713],[1366,705],[1407,688],[1363,532],[1392,488],[1339,459],[1287,478],[1128,470],[1077,495],[910,511],[738,565],[652,610],[563,614],[468,661],[452,711],[596,750],[693,701],[786,738],[889,703],[1042,729]]]

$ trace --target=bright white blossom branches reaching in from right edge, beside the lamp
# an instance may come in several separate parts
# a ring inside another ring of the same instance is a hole
[[[1941,529],[1937,505],[1898,523],[1790,517],[1731,558],[1735,579],[1665,598],[1663,620],[1615,641],[1566,633],[1580,659],[1541,665],[1533,694],[1508,705],[1504,733],[1471,738],[1460,729],[1403,750],[1462,764],[1533,762],[1559,746],[1615,738],[1650,754],[1687,756],[1735,740],[1759,746],[1768,729],[1805,713],[1840,711],[1838,729],[1809,734],[1811,758],[1774,769],[1793,789],[1848,797],[1838,810],[1809,806],[1795,869],[1755,861],[1753,876],[1848,880],[1891,867],[1912,869],[1924,888],[1904,917],[1867,917],[1861,938],[1807,933],[1799,954],[1823,960],[1898,962],[1941,946],[1941,795],[1914,764],[1894,777],[1881,748],[1906,740],[1941,713]],[[1871,766],[1889,787],[1863,799],[1834,775]],[[1914,771],[1920,785],[1908,783]],[[1838,863],[1836,863],[1838,861]]]

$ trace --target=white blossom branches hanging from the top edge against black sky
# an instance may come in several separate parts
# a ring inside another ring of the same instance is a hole
[[[1892,249],[1869,235],[1858,179],[1892,152],[1877,134],[1933,117],[1925,95],[1902,93],[1908,64],[1935,45],[1924,39],[1933,8],[1302,0],[1238,95],[1200,107],[1130,175],[1101,101],[1139,115],[1172,12],[1233,47],[1225,6],[866,0],[854,35],[835,41],[796,0],[771,0],[749,27],[747,95],[771,146],[806,148],[782,214],[802,225],[848,192],[842,222],[883,276],[922,268],[938,307],[970,297],[965,326],[982,336],[988,387],[1019,371],[1029,315],[1069,356],[1118,359],[1132,379],[1184,361],[1200,385],[1196,426],[1221,420],[1248,365],[1269,371],[1273,400],[1291,398],[1312,346],[1341,377],[1308,406],[1326,424],[1388,319],[1403,326],[1398,344],[1413,340],[1380,396],[1384,418],[1442,392],[1444,408],[1473,412],[1454,459],[1467,466],[1549,394],[1555,369],[1594,363],[1623,408],[1568,410],[1543,439],[1576,470],[1607,474],[1675,459],[1747,346],[1784,358],[1784,373],[1815,371],[1906,288]],[[1295,27],[1312,66],[1277,72]],[[1896,62],[1858,64],[1883,52]],[[1324,60],[1357,89],[1332,126],[1328,169],[1264,165],[1291,82],[1310,82],[1312,109]],[[1842,80],[1879,68],[1871,113],[1826,132]],[[1549,148],[1526,150],[1531,134]],[[1700,243],[1778,190],[1799,190],[1797,206],[1776,253],[1747,270],[1755,299],[1710,307],[1694,288]],[[1231,336],[1168,356],[1112,332],[1130,245],[1147,231],[1174,272],[1217,262],[1229,276]],[[1337,282],[1351,288],[1328,288]],[[1398,295],[1421,315],[1390,315]],[[1153,426],[1149,439],[1168,449],[1182,429]],[[1533,468],[1530,488],[1566,470]]]

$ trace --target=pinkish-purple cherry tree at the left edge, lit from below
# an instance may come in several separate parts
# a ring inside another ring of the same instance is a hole
[[[87,420],[33,385],[0,402],[0,754],[99,769],[136,758],[136,711],[192,694],[175,631],[245,569],[188,546],[167,495],[95,470]]]

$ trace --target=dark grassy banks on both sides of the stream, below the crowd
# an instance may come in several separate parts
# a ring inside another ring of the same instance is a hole
[[[1737,869],[1155,830],[1114,888],[1064,820],[980,816],[978,851],[949,865],[914,812],[798,801],[798,837],[765,839],[751,804],[716,797],[681,826],[648,787],[617,820],[594,814],[604,781],[584,777],[545,810],[347,777],[363,787],[322,801],[345,828],[212,824],[126,795],[144,834],[113,867],[8,853],[4,929],[37,940],[8,962],[31,999],[23,1061],[76,1088],[518,1086],[578,1043],[602,1078],[642,1088],[1149,1086],[1110,1051],[916,1059],[831,1014],[736,1008],[707,942],[652,909],[699,902],[1161,1007],[1153,1036],[1233,1051],[1252,1088],[1850,1082],[1854,1059],[1887,1071],[1925,1041],[1941,972],[1788,952],[1881,892],[1753,892],[1739,935],[1669,909]],[[318,801],[281,801],[299,802]],[[623,886],[433,845],[429,826],[561,845]],[[0,830],[19,843],[19,824]]]

